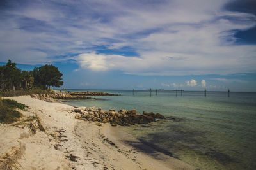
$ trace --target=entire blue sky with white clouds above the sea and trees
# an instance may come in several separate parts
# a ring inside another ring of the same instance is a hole
[[[1,0],[8,59],[68,89],[256,91],[256,1]]]

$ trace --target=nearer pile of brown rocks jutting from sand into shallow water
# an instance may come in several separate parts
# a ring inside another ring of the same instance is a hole
[[[93,121],[100,123],[110,123],[113,126],[121,125],[128,126],[134,124],[147,124],[157,119],[165,119],[165,117],[159,113],[147,113],[143,111],[143,114],[137,114],[136,110],[120,110],[115,111],[113,109],[103,111],[101,108],[75,108],[72,110],[77,113],[77,119],[84,121]]]

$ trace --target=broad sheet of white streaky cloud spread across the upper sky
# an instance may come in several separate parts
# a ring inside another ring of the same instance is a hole
[[[12,57],[14,62],[38,64],[81,53],[74,59],[92,71],[116,69],[137,75],[256,71],[255,45],[234,45],[233,37],[234,30],[254,27],[256,17],[226,11],[223,6],[230,0],[155,4],[88,0],[63,1],[61,6],[51,2],[28,3],[4,13],[7,17],[0,22],[0,61]],[[24,17],[26,22],[20,19]],[[33,26],[36,29],[29,30]],[[128,46],[138,56],[93,53],[99,46],[109,50]]]

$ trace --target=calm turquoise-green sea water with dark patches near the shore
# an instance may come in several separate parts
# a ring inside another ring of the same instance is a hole
[[[78,90],[70,90],[78,91]],[[84,90],[81,90],[84,91]],[[86,91],[86,90],[85,90]],[[104,100],[68,101],[104,110],[161,113],[166,120],[132,125],[125,131],[198,169],[256,169],[255,92],[91,90],[121,94]],[[179,118],[179,121],[171,117]],[[152,153],[148,153],[152,154]]]

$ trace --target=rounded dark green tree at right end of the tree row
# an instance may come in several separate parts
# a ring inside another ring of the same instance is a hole
[[[35,84],[41,88],[49,89],[50,86],[61,87],[63,85],[63,81],[61,81],[63,74],[52,64],[45,64],[42,67],[35,68],[32,74],[35,78]]]

